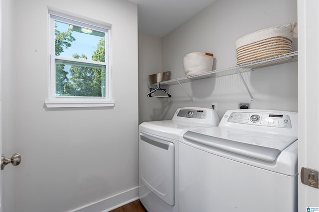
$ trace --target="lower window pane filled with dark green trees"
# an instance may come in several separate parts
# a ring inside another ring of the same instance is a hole
[[[56,59],[55,96],[105,97],[105,66]]]

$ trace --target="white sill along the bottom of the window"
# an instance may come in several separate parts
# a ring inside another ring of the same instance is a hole
[[[45,101],[47,108],[114,107],[114,101]]]

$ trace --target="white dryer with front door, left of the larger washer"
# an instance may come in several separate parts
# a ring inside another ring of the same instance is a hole
[[[178,212],[179,136],[218,123],[215,110],[191,107],[178,108],[171,120],[140,125],[139,198],[148,212]]]

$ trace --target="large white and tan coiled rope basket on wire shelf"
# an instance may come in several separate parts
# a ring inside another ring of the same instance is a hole
[[[274,26],[236,40],[237,65],[293,52],[295,26],[296,23]]]

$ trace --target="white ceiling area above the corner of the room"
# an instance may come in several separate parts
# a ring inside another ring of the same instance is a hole
[[[139,31],[164,37],[215,0],[131,0],[138,4]]]

